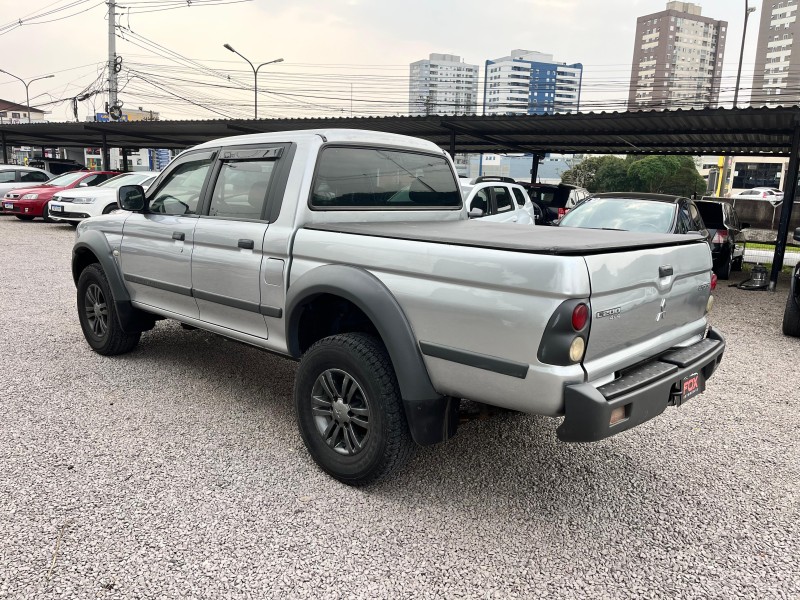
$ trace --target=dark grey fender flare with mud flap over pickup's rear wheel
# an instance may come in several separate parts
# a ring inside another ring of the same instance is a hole
[[[392,361],[406,419],[417,444],[451,438],[458,425],[459,400],[442,396],[431,383],[414,331],[391,291],[375,275],[353,265],[323,265],[303,274],[286,296],[286,343],[300,358],[303,307],[317,296],[339,296],[357,306],[378,330]]]

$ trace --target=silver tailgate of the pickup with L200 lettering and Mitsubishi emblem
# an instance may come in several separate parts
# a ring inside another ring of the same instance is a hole
[[[591,255],[585,261],[592,286],[588,363],[626,350],[635,355],[637,345],[650,353],[666,349],[690,330],[702,329],[711,280],[705,241]]]

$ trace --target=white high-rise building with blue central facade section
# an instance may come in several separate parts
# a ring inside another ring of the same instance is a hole
[[[578,112],[583,65],[555,62],[552,54],[512,50],[487,60],[483,106],[487,115]]]

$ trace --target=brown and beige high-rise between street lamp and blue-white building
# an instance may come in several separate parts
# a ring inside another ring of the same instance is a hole
[[[639,17],[628,110],[716,106],[727,29],[691,2]]]

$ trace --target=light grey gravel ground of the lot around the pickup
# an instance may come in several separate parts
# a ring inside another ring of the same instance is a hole
[[[0,598],[800,598],[786,280],[718,289],[728,350],[679,409],[589,445],[474,420],[351,489],[305,452],[293,363],[175,323],[101,357],[72,228],[0,239]]]

